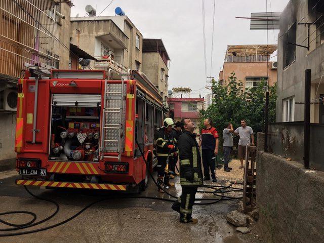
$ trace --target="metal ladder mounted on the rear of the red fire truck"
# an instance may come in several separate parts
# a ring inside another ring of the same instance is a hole
[[[108,75],[109,76],[109,75]],[[105,80],[105,95],[102,112],[101,159],[117,158],[125,148],[124,129],[126,116],[126,83],[108,83]],[[106,156],[104,153],[118,153],[117,156]]]

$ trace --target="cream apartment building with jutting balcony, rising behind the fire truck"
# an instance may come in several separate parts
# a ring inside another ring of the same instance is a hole
[[[142,70],[143,36],[127,16],[89,16],[71,18],[70,41],[96,60],[92,69],[114,70],[120,73]]]

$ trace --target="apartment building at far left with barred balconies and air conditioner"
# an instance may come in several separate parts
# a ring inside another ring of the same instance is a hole
[[[15,165],[16,85],[24,63],[68,68],[71,6],[68,0],[0,1],[0,170]]]

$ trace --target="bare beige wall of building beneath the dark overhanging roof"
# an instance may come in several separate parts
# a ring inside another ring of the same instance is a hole
[[[143,56],[142,71],[152,81],[155,86],[158,86],[159,94],[163,96],[163,100],[168,98],[168,82],[164,77],[161,80],[161,68],[163,68],[164,74],[169,75],[169,70],[160,54],[157,52],[145,52]]]

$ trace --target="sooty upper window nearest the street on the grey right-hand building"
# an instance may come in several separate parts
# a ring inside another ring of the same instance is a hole
[[[292,45],[296,43],[296,22],[290,27],[282,40],[284,41],[284,68],[295,61],[296,58],[296,46]]]

